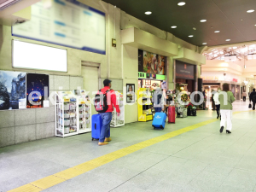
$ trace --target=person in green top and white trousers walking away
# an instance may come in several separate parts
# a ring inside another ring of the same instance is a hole
[[[223,132],[224,126],[227,124],[226,133],[231,133],[232,130],[232,103],[236,101],[235,96],[230,91],[229,84],[223,84],[223,91],[218,95],[218,100],[220,103],[220,133]]]

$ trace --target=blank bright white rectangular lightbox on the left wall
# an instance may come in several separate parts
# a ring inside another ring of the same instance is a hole
[[[13,67],[67,72],[67,49],[13,40]]]

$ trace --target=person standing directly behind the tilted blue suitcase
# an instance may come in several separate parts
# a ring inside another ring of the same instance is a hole
[[[166,111],[165,96],[163,96],[163,92],[161,91],[160,87],[156,88],[156,90],[154,91],[153,102],[155,113]]]

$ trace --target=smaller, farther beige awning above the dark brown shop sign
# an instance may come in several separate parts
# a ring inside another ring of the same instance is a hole
[[[206,56],[186,48],[179,48],[178,55],[173,58],[193,65],[205,65],[207,62]]]

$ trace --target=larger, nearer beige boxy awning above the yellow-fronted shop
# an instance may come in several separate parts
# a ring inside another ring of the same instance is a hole
[[[121,31],[122,44],[131,45],[151,53],[163,56],[175,56],[178,53],[177,44],[158,38],[149,32],[131,27]]]

